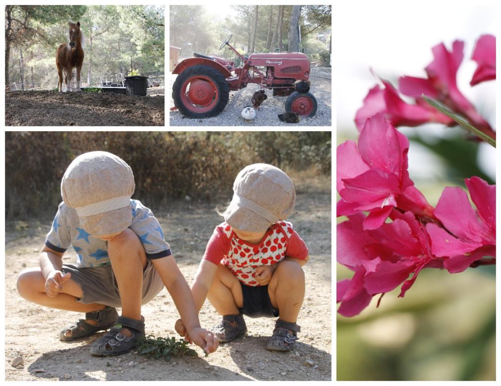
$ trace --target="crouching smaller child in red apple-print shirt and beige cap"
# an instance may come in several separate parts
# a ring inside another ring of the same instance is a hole
[[[300,331],[308,261],[306,244],[284,221],[294,209],[294,184],[279,168],[257,163],[238,173],[233,192],[191,285],[197,310],[208,298],[222,315],[212,329],[219,342],[247,331],[243,315],[278,317],[266,348],[289,351]],[[176,331],[192,338],[181,319]]]

